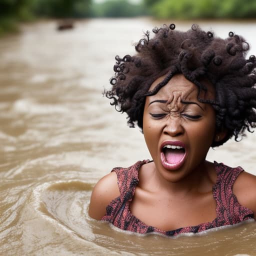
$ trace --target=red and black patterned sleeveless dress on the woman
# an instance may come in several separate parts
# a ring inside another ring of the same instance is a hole
[[[240,205],[232,191],[232,185],[243,169],[241,167],[231,168],[223,163],[214,162],[217,179],[216,184],[212,187],[213,198],[216,200],[216,218],[213,221],[169,231],[163,231],[143,223],[132,215],[129,210],[129,204],[138,184],[138,170],[142,164],[147,162],[149,160],[137,161],[128,168],[116,167],[112,169],[117,174],[120,196],[107,205],[106,214],[102,217],[102,220],[132,232],[143,234],[158,232],[164,235],[177,235],[190,232],[197,233],[210,228],[232,225],[247,219],[253,219],[252,210]]]

